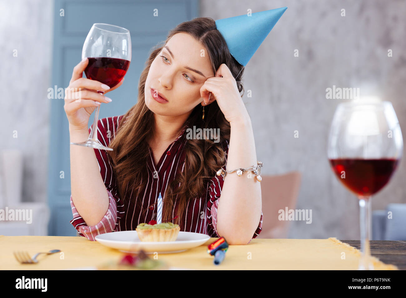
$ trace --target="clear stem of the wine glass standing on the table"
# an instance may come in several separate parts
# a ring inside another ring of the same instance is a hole
[[[371,196],[359,198],[359,219],[361,228],[361,259],[358,270],[374,270],[369,249],[371,233]]]

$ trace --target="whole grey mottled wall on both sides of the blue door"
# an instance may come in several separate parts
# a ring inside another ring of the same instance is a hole
[[[312,209],[313,223],[292,222],[290,238],[358,239],[357,199],[333,176],[326,157],[330,121],[342,100],[326,99],[325,90],[336,85],[379,94],[393,103],[406,133],[406,4],[203,0],[201,16],[220,19],[283,6],[287,11],[244,71],[244,88],[253,94],[244,102],[257,156],[264,163],[263,174],[302,172],[297,208]],[[5,128],[0,149],[24,151],[24,201],[46,201],[52,9],[50,0],[0,0],[0,124]],[[345,17],[341,9],[346,9]],[[13,58],[13,49],[18,58]],[[393,50],[391,58],[388,49]],[[299,138],[294,138],[295,130]],[[405,171],[402,161],[373,198],[373,209],[406,203]]]

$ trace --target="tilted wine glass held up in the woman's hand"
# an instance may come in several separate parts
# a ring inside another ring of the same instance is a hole
[[[131,62],[130,31],[110,24],[93,24],[83,44],[82,59],[88,58],[89,64],[84,70],[86,78],[99,81],[113,88],[127,73]],[[97,91],[104,94],[104,91]],[[93,129],[89,139],[81,143],[70,143],[96,149],[113,150],[103,146],[97,140],[98,105],[95,109]]]

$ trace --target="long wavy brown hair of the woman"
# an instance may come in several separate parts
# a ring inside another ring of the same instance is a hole
[[[145,189],[147,182],[147,159],[150,158],[147,139],[151,134],[153,135],[154,123],[154,113],[145,104],[144,94],[149,67],[168,40],[179,32],[190,34],[205,47],[212,64],[213,74],[216,73],[222,63],[225,63],[237,82],[241,97],[244,94],[244,87],[241,82],[244,73],[243,66],[231,56],[227,43],[216,29],[214,19],[198,17],[183,22],[170,30],[166,41],[151,49],[151,54],[145,62],[146,66],[141,73],[138,84],[138,102],[121,119],[119,130],[109,145],[113,150],[107,151],[114,174],[117,177],[117,190],[120,197],[123,198],[125,206],[128,206],[129,203],[134,204],[134,202],[128,202],[130,191],[133,192],[132,197],[134,197],[134,193],[139,195]],[[238,77],[236,77],[237,75]],[[189,126],[196,126],[196,129],[219,128],[220,141],[214,143],[212,139],[188,139],[184,147],[186,153],[184,171],[182,173],[179,171],[179,174],[175,175],[174,181],[168,184],[166,188],[162,221],[169,220],[179,224],[181,231],[184,230],[181,223],[184,222],[188,201],[195,197],[205,197],[210,178],[214,177],[216,171],[225,164],[225,154],[221,143],[230,139],[230,124],[225,119],[217,102],[214,101],[205,107],[204,120],[202,120],[201,109],[200,104],[194,107],[186,122]],[[175,216],[178,217],[172,220],[176,197],[177,214]],[[143,209],[140,203],[139,207],[145,216],[146,209]]]

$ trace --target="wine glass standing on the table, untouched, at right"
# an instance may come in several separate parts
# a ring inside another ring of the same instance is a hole
[[[361,259],[358,270],[374,270],[369,251],[371,196],[389,182],[402,150],[402,132],[389,101],[353,101],[337,106],[327,155],[339,181],[359,199]]]

